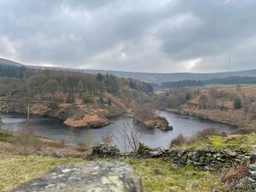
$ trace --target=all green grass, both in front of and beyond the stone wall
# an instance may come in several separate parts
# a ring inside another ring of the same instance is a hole
[[[11,132],[0,131],[1,140],[5,141],[11,137],[13,137]],[[212,136],[203,141],[186,143],[182,148],[205,148],[206,144],[211,144],[214,149],[241,148],[249,152],[251,145],[256,144],[256,135]],[[174,169],[169,160],[162,159],[119,160],[133,166],[142,176],[145,192],[203,192],[212,188],[220,190],[224,188],[224,185],[218,182],[219,172],[204,172],[193,166]],[[55,159],[37,155],[0,154],[0,191],[11,189],[17,184],[30,180],[32,177],[37,177],[55,166],[79,161],[84,160],[78,158]]]

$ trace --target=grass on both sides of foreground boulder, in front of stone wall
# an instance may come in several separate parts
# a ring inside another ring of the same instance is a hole
[[[101,160],[101,159],[99,159]],[[143,178],[145,192],[209,191],[219,187],[216,172],[203,172],[193,166],[173,169],[170,161],[160,159],[119,159],[131,164]],[[0,158],[0,190],[8,190],[54,166],[82,159],[6,155]],[[109,160],[111,161],[111,160]]]

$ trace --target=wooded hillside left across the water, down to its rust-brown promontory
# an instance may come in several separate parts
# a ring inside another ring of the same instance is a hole
[[[153,92],[150,84],[113,75],[0,67],[0,112],[27,113],[29,106],[32,114],[73,127],[108,125],[109,117],[129,112]]]

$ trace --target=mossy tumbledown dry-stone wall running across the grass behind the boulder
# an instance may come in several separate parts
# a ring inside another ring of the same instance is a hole
[[[148,148],[139,144],[137,152],[121,154],[116,147],[99,145],[92,148],[92,153],[87,157],[97,158],[166,158],[172,166],[193,165],[202,170],[216,170],[232,166],[234,163],[245,162],[249,159],[246,152],[241,150],[212,150],[209,146],[203,149],[164,149]]]

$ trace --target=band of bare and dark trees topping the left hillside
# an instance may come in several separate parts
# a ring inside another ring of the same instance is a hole
[[[14,70],[0,79],[1,92],[8,96],[65,98],[74,102],[76,97],[84,102],[94,102],[97,97],[100,102],[105,92],[113,96],[135,96],[140,93],[151,94],[150,84],[135,80],[123,79],[112,74],[90,74],[54,69],[27,69],[25,67],[7,67]],[[24,71],[21,71],[24,70]],[[1,71],[2,72],[2,71]],[[22,72],[22,73],[21,73]],[[15,75],[16,74],[16,75]]]

